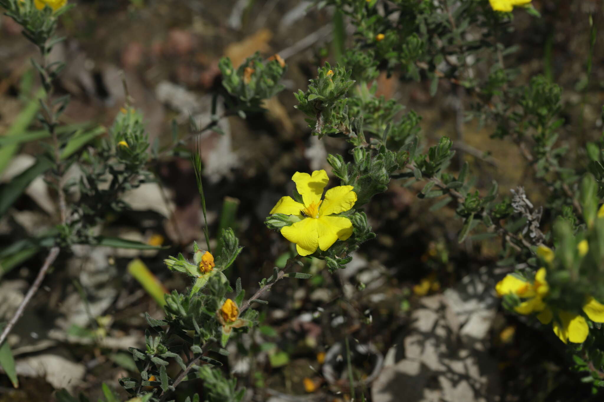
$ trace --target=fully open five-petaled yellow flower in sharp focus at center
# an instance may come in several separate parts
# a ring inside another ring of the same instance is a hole
[[[281,229],[283,237],[296,243],[301,256],[308,256],[320,248],[325,251],[336,240],[346,240],[352,235],[352,222],[342,216],[330,216],[350,210],[356,203],[353,186],[338,186],[327,190],[321,200],[329,178],[324,170],[307,173],[295,172],[292,180],[302,196],[303,204],[290,196],[281,197],[271,213],[297,215],[301,220]]]

